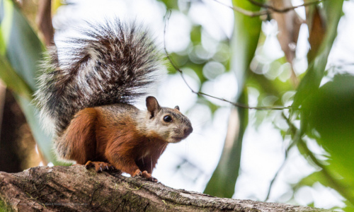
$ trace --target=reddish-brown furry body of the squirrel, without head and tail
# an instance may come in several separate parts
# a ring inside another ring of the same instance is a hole
[[[86,108],[76,114],[59,139],[69,145],[66,158],[78,164],[103,161],[132,176],[147,171],[143,175],[148,178],[167,142],[157,135],[141,134],[136,126],[133,117],[107,114],[101,107]]]

